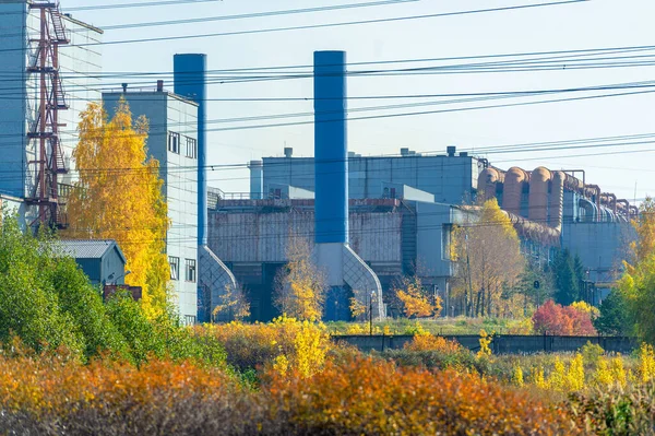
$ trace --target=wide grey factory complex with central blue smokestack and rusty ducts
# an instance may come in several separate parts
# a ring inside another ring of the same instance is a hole
[[[282,157],[250,162],[250,200],[217,198],[210,204],[209,246],[248,291],[253,319],[277,314],[274,278],[286,262],[288,240],[298,236],[314,241],[314,258],[329,272],[343,272],[343,256],[322,255],[322,244],[347,247],[374,275],[364,285],[335,280],[332,286],[355,296],[361,291],[356,286],[373,288],[378,302],[388,302],[394,280],[417,274],[448,306],[455,273],[452,229],[475,221],[469,204],[478,198],[498,199],[532,261],[545,264],[556,249],[568,248],[581,257],[594,286],[615,282],[623,247],[634,238],[634,205],[587,184],[579,169],[505,172],[454,146],[441,155],[407,148],[394,156],[348,152],[345,85],[331,82],[343,79],[337,67],[344,59],[315,54],[315,157],[294,157],[287,148]],[[322,62],[336,70],[325,73]],[[366,302],[366,295],[358,298]]]

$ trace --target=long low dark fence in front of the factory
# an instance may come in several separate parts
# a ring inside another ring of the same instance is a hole
[[[479,335],[457,334],[443,335],[449,340],[457,341],[462,346],[477,351],[479,349]],[[413,335],[334,335],[335,342],[344,342],[356,346],[364,352],[398,350],[414,339]],[[531,354],[531,353],[556,353],[574,352],[587,342],[598,344],[607,352],[629,354],[639,347],[635,338],[624,337],[552,337],[552,335],[495,335],[489,345],[495,354]]]

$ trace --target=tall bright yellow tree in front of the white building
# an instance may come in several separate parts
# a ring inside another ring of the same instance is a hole
[[[80,142],[73,152],[80,179],[69,199],[70,226],[63,236],[116,239],[131,271],[126,282],[143,288],[143,308],[155,318],[168,304],[169,221],[159,163],[147,156],[147,120],[133,120],[124,99],[111,119],[97,103],[80,117]]]

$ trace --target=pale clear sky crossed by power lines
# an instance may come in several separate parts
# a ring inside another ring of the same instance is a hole
[[[115,42],[370,21],[547,2],[547,0],[414,0],[291,15],[269,15],[138,28],[108,28],[129,23],[226,16],[369,3],[371,1],[373,0],[205,0],[177,5],[94,11],[75,10],[75,8],[111,2],[109,0],[62,0],[62,8],[64,11],[70,10],[79,20],[100,28],[107,27],[104,40]],[[119,2],[117,1],[117,3]],[[132,3],[139,2],[152,2],[152,0],[140,0]],[[175,54],[204,52],[207,55],[210,70],[305,66],[305,68],[294,70],[288,68],[282,70],[302,73],[311,71],[313,51],[325,49],[345,50],[349,63],[410,60],[383,64],[355,64],[348,67],[349,71],[370,68],[433,67],[453,62],[471,63],[480,60],[439,62],[417,62],[417,60],[655,45],[653,16],[655,16],[653,0],[591,0],[540,8],[398,20],[341,27],[115,44],[103,47],[103,69],[105,73],[128,71],[170,73]],[[647,51],[643,55],[651,54],[652,51]],[[567,67],[565,62],[561,62],[553,71],[350,75],[348,78],[348,95],[356,97],[408,96],[588,87],[651,81],[655,73],[655,64],[577,70]],[[247,75],[252,74],[254,74],[252,71],[247,72]],[[266,74],[269,73],[266,72]],[[166,87],[172,90],[172,82],[169,78],[165,78],[167,79]],[[135,82],[143,82],[143,78],[133,79]],[[156,78],[153,76],[152,81],[151,87],[154,86]],[[116,84],[117,79],[106,79],[106,82],[107,85]],[[555,94],[546,97],[533,96],[456,105],[434,105],[434,102],[442,99],[436,97],[355,98],[348,102],[348,106],[353,110],[371,106],[414,104],[410,107],[353,111],[349,115],[349,118],[357,118],[371,115],[471,108],[480,105],[528,102],[535,101],[535,98],[561,99],[632,91],[634,90]],[[311,78],[240,83],[212,81],[209,86],[210,99],[311,98]],[[417,106],[416,103],[429,105]],[[440,111],[369,120],[352,119],[348,123],[349,150],[362,155],[398,154],[401,148],[409,148],[417,152],[444,153],[448,145],[455,145],[460,150],[472,150],[475,154],[487,157],[492,165],[504,169],[511,166],[520,166],[528,170],[537,166],[546,166],[550,169],[584,168],[587,182],[599,185],[604,191],[615,192],[619,198],[627,198],[632,202],[634,198],[643,199],[648,193],[655,193],[655,168],[651,165],[655,152],[653,144],[623,144],[543,152],[529,151],[529,145],[526,145],[514,149],[511,153],[486,154],[483,149],[654,133],[654,107],[655,93],[645,93],[504,108]],[[210,165],[245,164],[262,156],[283,155],[285,146],[293,148],[296,156],[311,156],[313,154],[313,127],[311,123],[238,130],[225,130],[225,128],[311,121],[311,115],[290,119],[246,122],[237,122],[233,119],[311,113],[312,110],[311,101],[210,102],[207,106],[209,126],[210,129],[215,130],[210,131],[207,137],[207,163]],[[610,143],[621,142],[617,140]],[[476,149],[483,151],[476,153]],[[596,155],[593,155],[594,153]],[[221,188],[225,192],[247,192],[249,189],[249,174],[248,169],[243,167],[229,170],[217,168],[209,173],[207,179],[210,186]]]

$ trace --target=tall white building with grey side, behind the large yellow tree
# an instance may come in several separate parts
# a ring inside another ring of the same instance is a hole
[[[181,318],[192,323],[198,313],[198,105],[167,92],[150,90],[103,94],[109,114],[126,98],[133,117],[150,121],[148,154],[159,161],[170,228],[166,254]]]

